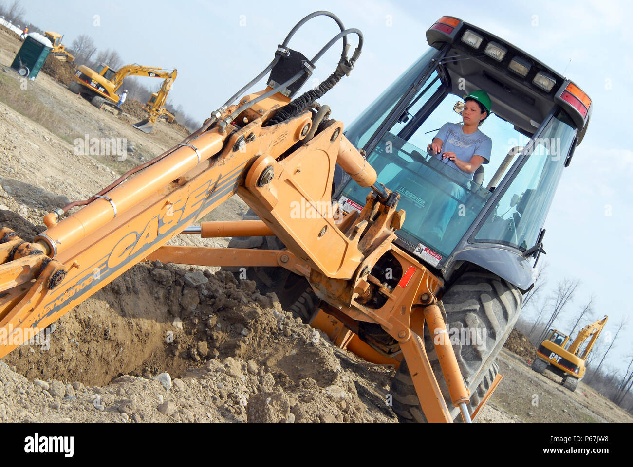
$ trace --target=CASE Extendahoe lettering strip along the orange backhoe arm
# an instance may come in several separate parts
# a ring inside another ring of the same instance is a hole
[[[84,270],[86,271],[85,275],[78,278],[74,285],[47,303],[31,326],[37,327],[38,323],[47,316],[57,313],[70,302],[87,294],[96,282],[103,282],[103,285],[106,285],[110,282],[108,278],[113,280],[118,276],[116,271],[131,262],[138,263],[139,259],[147,256],[147,251],[154,245],[162,243],[162,240],[172,235],[173,232],[197,219],[201,211],[217,202],[218,199],[230,192],[235,192],[237,182],[242,175],[242,169],[247,162],[235,168],[219,183],[209,180],[192,190],[184,202],[184,206],[181,206],[182,200],[179,200],[174,204],[173,209],[161,212],[151,218],[142,232],[128,232],[123,235],[116,242],[112,251]],[[98,273],[94,271],[98,271]]]

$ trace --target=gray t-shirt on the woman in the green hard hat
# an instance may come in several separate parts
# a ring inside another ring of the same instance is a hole
[[[480,130],[467,135],[461,131],[462,125],[458,123],[444,123],[442,128],[439,129],[436,138],[442,140],[442,153],[446,151],[452,151],[455,153],[458,159],[464,162],[470,162],[472,156],[482,156],[484,164],[490,162],[490,153],[492,152],[492,140],[484,135]],[[435,156],[441,159],[442,156]],[[444,159],[446,160],[446,159]],[[446,165],[453,167],[456,170],[460,170],[458,166],[452,161],[448,161]],[[466,173],[460,170],[463,175],[468,178],[473,178],[473,173]]]

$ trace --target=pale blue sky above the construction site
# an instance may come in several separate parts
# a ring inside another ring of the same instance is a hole
[[[484,28],[571,78],[594,103],[589,130],[563,171],[545,224],[548,254],[540,261],[549,263],[548,291],[562,278],[581,280],[567,318],[556,324],[570,330],[572,314],[592,295],[594,319],[610,317],[601,339],[615,334],[620,320],[630,316],[633,151],[625,99],[633,84],[633,28],[626,22],[633,8],[626,1],[22,3],[28,22],[64,34],[66,46],[87,34],[99,49],[116,49],[126,63],[178,68],[170,97],[201,121],[265,68],[292,26],[316,8],[332,11],[345,27],[359,28],[364,35],[353,72],[322,99],[344,123],[351,123],[427,50],[425,31],[438,18],[456,16]],[[329,18],[315,18],[289,45],[311,58],[338,31]],[[350,42],[355,45],[356,38]],[[319,61],[310,85],[334,69],[340,44]],[[259,89],[263,85],[253,90]],[[526,316],[533,314],[526,311]],[[620,333],[607,364],[624,370],[633,352],[632,337],[633,320]]]

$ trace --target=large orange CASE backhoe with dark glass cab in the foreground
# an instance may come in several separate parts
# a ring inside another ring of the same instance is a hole
[[[308,59],[289,42],[322,15],[341,32]],[[46,215],[32,243],[0,230],[0,357],[18,345],[11,333],[40,332],[140,261],[249,268],[246,278],[334,344],[397,366],[387,403],[401,421],[475,421],[499,383],[494,359],[534,285],[542,226],[592,103],[458,18],[443,16],[426,37],[430,49],[345,129],[316,101],[351,73],[363,35],[332,13],[311,13],[182,142]],[[339,41],[334,72],[296,97]],[[269,72],[265,90],[244,94]],[[485,123],[499,143],[487,184],[421,149],[460,110],[455,98],[476,89],[496,114]],[[508,151],[510,137],[525,146]],[[453,199],[453,186],[463,196]],[[234,194],[256,218],[192,225]],[[439,213],[451,219],[431,235]],[[178,234],[242,245],[165,245]]]

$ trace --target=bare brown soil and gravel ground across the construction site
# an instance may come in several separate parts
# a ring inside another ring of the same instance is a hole
[[[0,28],[1,68],[20,46],[13,36]],[[18,82],[12,70],[4,78]],[[186,135],[162,122],[153,134],[139,132],[130,125],[144,118],[135,104],[113,116],[46,73],[25,92],[59,118],[50,130],[0,101],[0,227],[25,240],[44,230],[46,213],[87,199]],[[73,141],[85,134],[126,138],[127,160],[76,154]],[[233,197],[205,220],[237,220],[245,209]],[[228,239],[172,243],[226,246]],[[0,360],[0,422],[397,422],[385,403],[392,366],[333,346],[275,294],[218,268],[139,263],[46,335]],[[518,355],[501,352],[505,378],[480,421],[633,420],[583,383],[572,394],[553,375],[534,373],[533,347],[523,339],[513,332],[506,344]]]

